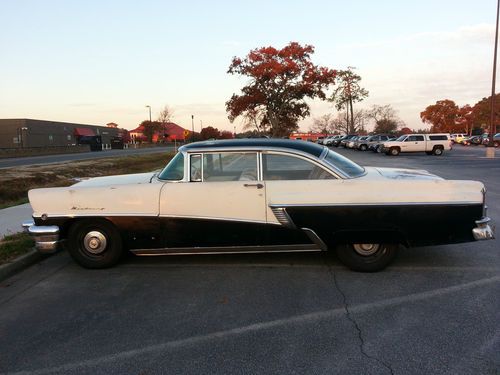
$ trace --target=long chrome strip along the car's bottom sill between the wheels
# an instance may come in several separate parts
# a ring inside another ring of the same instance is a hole
[[[159,249],[130,250],[135,255],[202,255],[202,254],[257,254],[257,253],[290,253],[321,251],[314,244],[275,245],[275,246],[227,246],[227,247],[171,247]]]

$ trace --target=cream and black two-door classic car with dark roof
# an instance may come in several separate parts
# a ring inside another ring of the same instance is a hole
[[[325,251],[378,271],[399,245],[493,238],[485,188],[424,170],[361,167],[284,139],[184,145],[161,171],[29,192],[24,226],[41,252],[62,243],[80,265],[137,255]]]

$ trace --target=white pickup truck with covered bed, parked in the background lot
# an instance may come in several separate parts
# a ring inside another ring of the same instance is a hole
[[[425,152],[427,155],[442,155],[451,150],[450,135],[440,134],[405,134],[392,142],[385,142],[383,151],[387,155],[397,156],[401,152]]]

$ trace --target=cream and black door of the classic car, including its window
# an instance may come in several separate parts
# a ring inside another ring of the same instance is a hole
[[[160,196],[166,247],[253,246],[266,226],[257,152],[188,154],[183,182]]]

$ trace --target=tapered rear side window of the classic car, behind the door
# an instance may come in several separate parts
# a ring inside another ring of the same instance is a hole
[[[288,155],[263,154],[264,180],[334,179],[329,172],[307,160]]]

